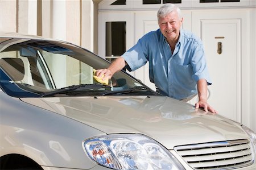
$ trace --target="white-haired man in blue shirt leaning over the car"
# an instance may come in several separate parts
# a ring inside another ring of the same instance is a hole
[[[108,69],[97,70],[96,75],[111,78],[125,66],[134,71],[148,62],[150,81],[159,93],[183,101],[198,94],[195,107],[217,113],[207,103],[207,85],[212,83],[203,44],[191,32],[181,30],[182,23],[178,7],[171,3],[163,5],[158,10],[159,29],[144,35]]]

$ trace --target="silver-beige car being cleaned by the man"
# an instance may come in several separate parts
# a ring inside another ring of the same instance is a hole
[[[256,169],[246,126],[162,96],[77,45],[0,35],[0,169]]]

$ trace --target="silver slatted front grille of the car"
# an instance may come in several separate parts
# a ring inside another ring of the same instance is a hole
[[[249,140],[177,146],[174,150],[194,169],[229,169],[253,164]]]

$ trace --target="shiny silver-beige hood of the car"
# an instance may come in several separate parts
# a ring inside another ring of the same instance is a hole
[[[206,114],[169,97],[54,97],[23,98],[106,134],[139,133],[168,149],[193,143],[247,138],[237,123]]]

